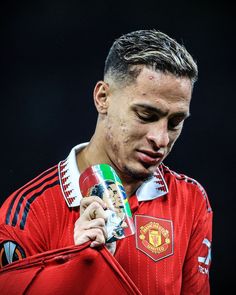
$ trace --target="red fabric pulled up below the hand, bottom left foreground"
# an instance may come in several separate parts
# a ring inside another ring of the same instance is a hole
[[[1,295],[141,294],[105,249],[73,246],[45,252],[0,270]]]

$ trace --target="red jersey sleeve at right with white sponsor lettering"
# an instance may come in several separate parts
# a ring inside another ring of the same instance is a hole
[[[200,185],[193,193],[193,200],[196,215],[183,267],[181,295],[209,295],[213,213]]]

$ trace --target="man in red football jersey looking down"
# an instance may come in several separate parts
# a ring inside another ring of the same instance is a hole
[[[209,294],[206,193],[163,164],[189,116],[196,79],[191,55],[167,35],[141,30],[117,39],[94,89],[98,120],[90,142],[2,206],[2,265],[73,244],[103,247],[106,204],[83,199],[78,179],[107,163],[122,180],[136,227],[135,236],[113,243],[114,259],[142,294]],[[18,254],[6,250],[9,243]]]

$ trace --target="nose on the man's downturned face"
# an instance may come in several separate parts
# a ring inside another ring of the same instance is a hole
[[[150,126],[147,133],[147,140],[152,145],[153,148],[165,148],[170,142],[168,125],[163,120],[155,123],[155,125]]]

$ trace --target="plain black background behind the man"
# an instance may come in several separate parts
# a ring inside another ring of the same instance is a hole
[[[233,1],[232,1],[233,2]],[[89,140],[92,92],[113,40],[159,29],[197,60],[182,137],[166,161],[196,178],[214,210],[212,294],[235,277],[235,23],[227,1],[2,1],[1,202]]]

